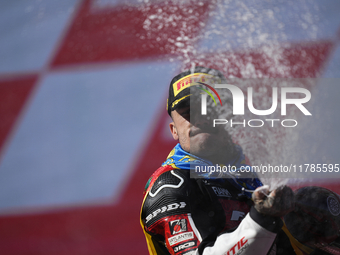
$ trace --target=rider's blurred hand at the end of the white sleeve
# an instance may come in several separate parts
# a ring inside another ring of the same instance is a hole
[[[288,186],[270,191],[264,185],[254,191],[252,198],[255,209],[264,215],[282,217],[294,209],[294,193]]]

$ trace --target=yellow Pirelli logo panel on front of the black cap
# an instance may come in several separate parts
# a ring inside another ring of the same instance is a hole
[[[182,79],[178,80],[174,84],[172,84],[174,96],[177,96],[178,93],[180,93],[182,90],[190,86],[199,85],[199,82],[207,83],[209,85],[220,83],[220,81],[218,81],[215,76],[210,74],[204,73],[189,74],[183,77]]]

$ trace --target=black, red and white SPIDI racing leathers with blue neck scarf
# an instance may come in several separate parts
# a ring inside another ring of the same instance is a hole
[[[236,148],[237,157],[225,165],[239,169],[247,164]],[[282,221],[258,213],[247,192],[262,185],[259,179],[212,178],[207,172],[191,178],[197,165],[212,164],[177,144],[149,179],[141,210],[149,253],[275,254]]]

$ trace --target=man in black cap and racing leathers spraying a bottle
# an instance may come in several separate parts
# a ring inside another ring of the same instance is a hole
[[[193,91],[216,83],[226,83],[225,77],[204,67],[185,71],[170,83],[170,131],[179,143],[146,185],[141,224],[150,254],[275,252],[280,218],[293,208],[290,188],[270,191],[255,175],[222,173],[217,178],[205,172],[191,178],[190,172],[204,167],[248,166],[228,132],[192,111]]]

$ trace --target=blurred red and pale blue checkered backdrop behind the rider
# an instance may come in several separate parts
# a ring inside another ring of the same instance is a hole
[[[0,254],[147,254],[139,210],[175,144],[171,78],[193,63],[340,78],[339,13],[337,0],[1,1]],[[319,125],[294,131],[302,154],[339,163],[340,88],[308,89]]]

